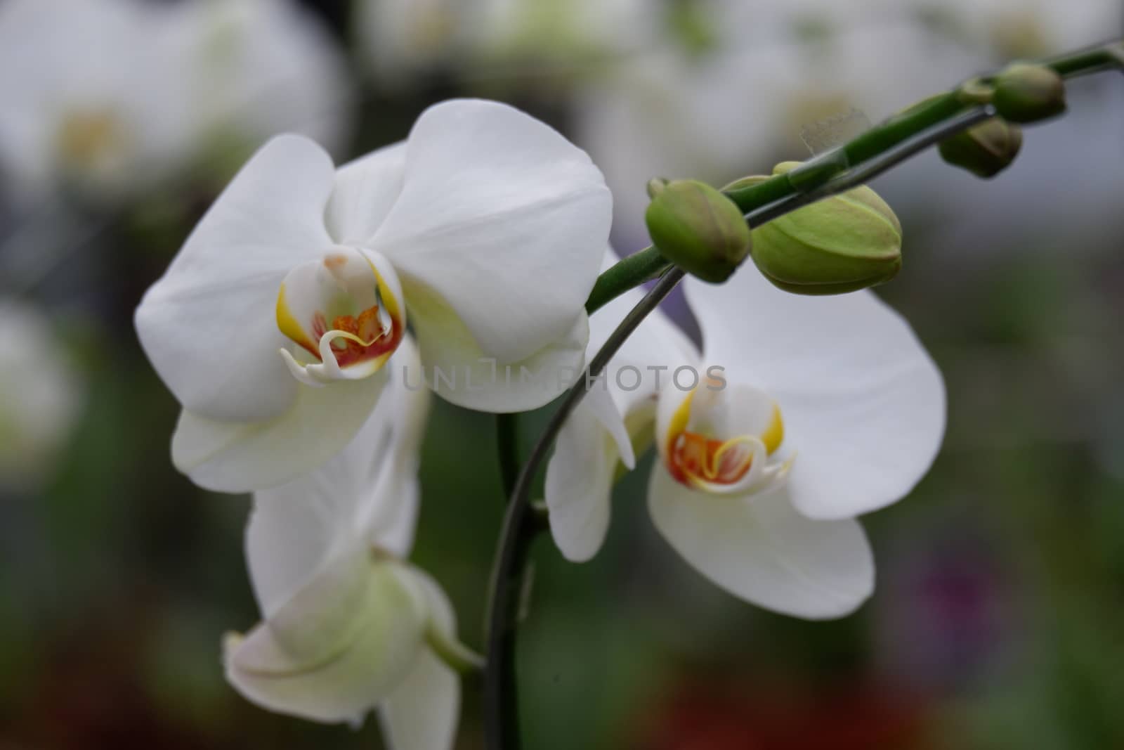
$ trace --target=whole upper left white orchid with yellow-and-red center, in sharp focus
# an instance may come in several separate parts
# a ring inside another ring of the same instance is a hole
[[[582,151],[496,102],[436,105],[338,171],[311,141],[271,141],[137,308],[183,406],[175,466],[245,491],[321,464],[379,399],[407,316],[444,398],[547,403],[565,382],[543,373],[584,355],[610,214]]]

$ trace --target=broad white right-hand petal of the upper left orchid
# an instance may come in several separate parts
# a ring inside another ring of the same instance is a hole
[[[406,148],[401,195],[369,246],[398,269],[408,304],[416,292],[445,300],[500,364],[566,341],[611,214],[584,152],[528,115],[480,100],[430,107]],[[446,345],[441,359],[463,352],[459,338],[430,337],[419,332],[426,360]]]

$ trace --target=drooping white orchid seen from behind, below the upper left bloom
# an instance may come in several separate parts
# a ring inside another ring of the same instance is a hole
[[[393,356],[411,362],[409,338]],[[262,707],[359,724],[378,708],[388,747],[452,747],[460,711],[448,599],[405,561],[418,504],[429,391],[395,369],[392,392],[321,469],[254,495],[246,553],[263,622],[228,635],[230,684]]]

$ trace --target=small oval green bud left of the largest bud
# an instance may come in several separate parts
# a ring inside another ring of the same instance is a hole
[[[644,220],[669,261],[704,281],[729,278],[750,252],[750,227],[729,198],[695,180],[649,183]]]

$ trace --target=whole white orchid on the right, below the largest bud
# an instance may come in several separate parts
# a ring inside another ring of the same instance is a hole
[[[681,334],[659,313],[629,340],[617,360],[670,367],[658,404],[595,388],[575,412],[547,467],[555,542],[571,560],[596,553],[618,460],[632,466],[632,443],[654,427],[649,509],[683,559],[746,602],[807,618],[847,614],[874,575],[854,516],[900,499],[932,463],[944,432],[940,372],[869,291],[790,295],[753,269],[686,287],[705,355],[682,355]],[[595,316],[590,349],[629,297]],[[610,388],[622,367],[609,364]]]

